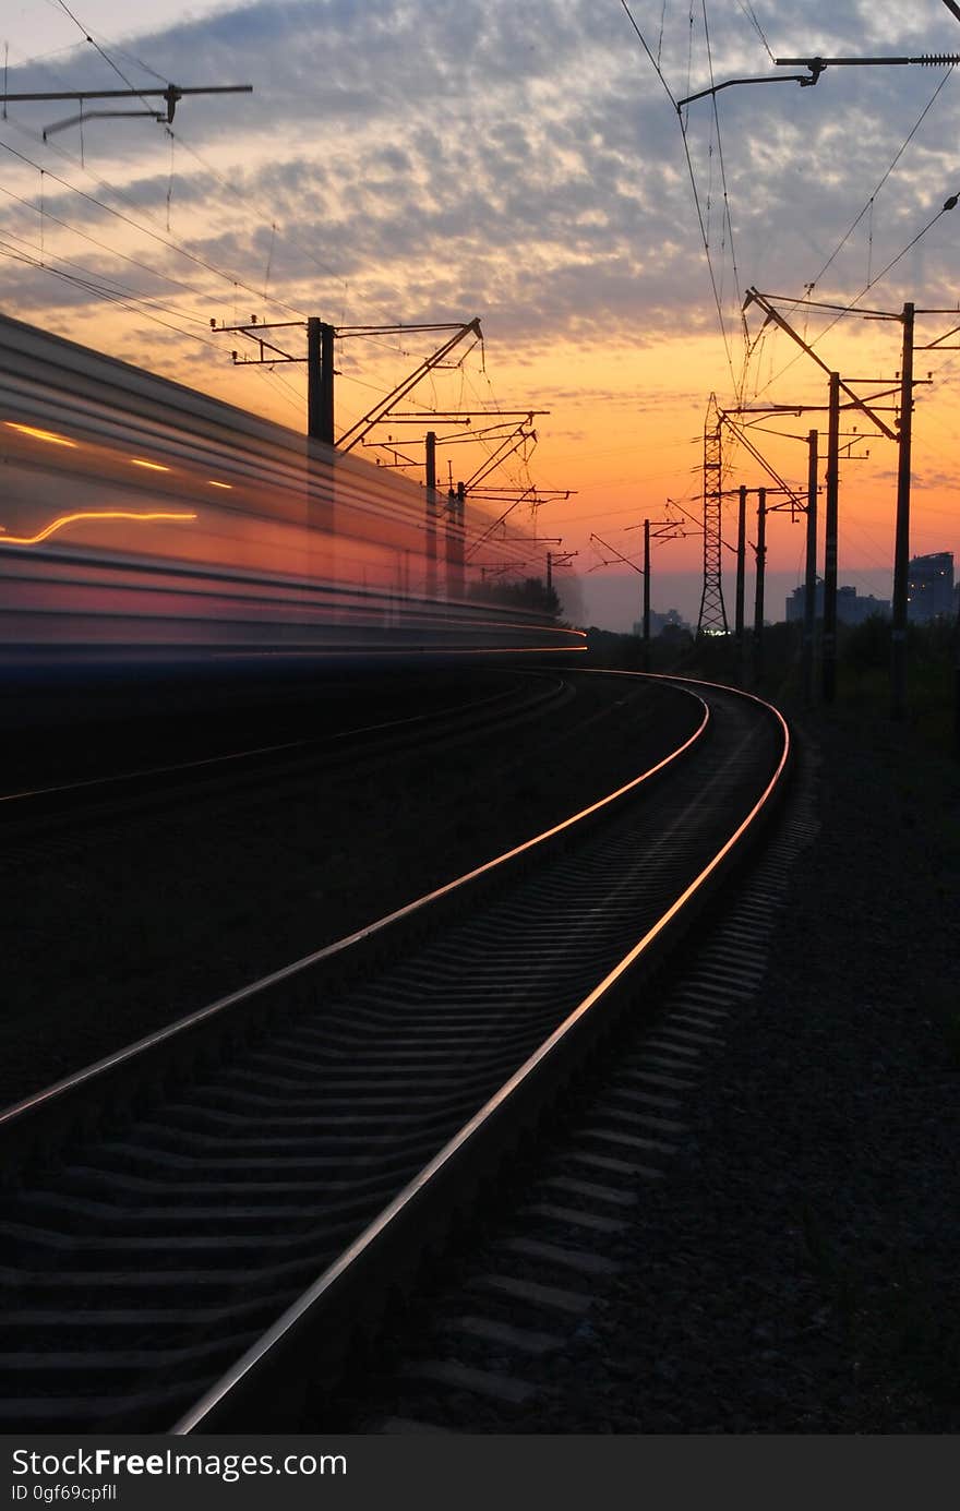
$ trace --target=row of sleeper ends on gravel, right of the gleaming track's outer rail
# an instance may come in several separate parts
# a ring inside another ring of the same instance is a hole
[[[609,1423],[605,1392],[620,1420],[632,1416],[636,1431],[649,1431],[650,1396],[677,1364],[649,1358],[646,1380],[633,1328],[621,1331],[624,1306],[633,1325],[643,1318],[653,1278],[638,1233],[649,1236],[652,1213],[670,1201],[674,1163],[683,1171],[701,1157],[711,1080],[762,990],[792,867],[818,827],[810,772],[801,771],[762,857],[709,910],[655,1011],[624,1018],[488,1200],[473,1241],[466,1236],[422,1278],[384,1342],[345,1373],[336,1401],[307,1416],[308,1431],[596,1432]],[[688,1201],[680,1210],[695,1228]],[[682,1275],[689,1254],[673,1260]],[[685,1357],[689,1284],[682,1295],[673,1336]],[[695,1298],[694,1316],[712,1304],[709,1293]],[[680,1417],[674,1429],[695,1420]]]

